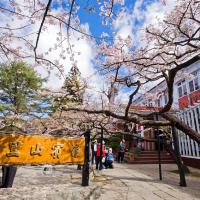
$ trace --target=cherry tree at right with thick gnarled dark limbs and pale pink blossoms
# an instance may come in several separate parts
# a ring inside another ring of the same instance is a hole
[[[181,1],[180,4],[160,22],[159,26],[150,25],[145,30],[145,44],[130,50],[130,38],[119,40],[114,44],[104,41],[99,47],[99,63],[103,70],[113,74],[115,83],[125,84],[133,88],[124,114],[111,110],[88,110],[88,113],[101,113],[124,121],[141,123],[145,126],[174,124],[192,139],[200,142],[200,136],[193,129],[174,115],[170,114],[173,103],[174,79],[178,72],[199,61],[199,3]],[[126,69],[127,74],[121,75],[120,70]],[[130,113],[130,105],[139,88],[155,80],[165,79],[169,100],[163,109],[148,114]],[[64,110],[69,108],[63,107]],[[80,110],[70,108],[70,110]],[[158,114],[165,121],[149,121],[145,117]]]

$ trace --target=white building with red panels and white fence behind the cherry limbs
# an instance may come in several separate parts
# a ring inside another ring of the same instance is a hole
[[[200,134],[200,62],[196,62],[180,74],[174,82],[174,103],[176,115]],[[133,106],[163,107],[168,101],[166,82],[162,81],[145,95],[133,101]],[[200,168],[200,144],[181,131],[179,148],[184,162]]]

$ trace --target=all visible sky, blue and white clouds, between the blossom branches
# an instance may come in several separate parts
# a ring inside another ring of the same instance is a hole
[[[46,0],[44,0],[46,1]],[[108,1],[108,0],[107,0]],[[117,2],[118,0],[115,0]],[[98,0],[76,0],[79,10],[78,10],[78,18],[80,20],[81,26],[86,26],[88,28],[88,31],[95,36],[100,36],[102,32],[108,33],[109,37],[112,37],[112,33],[115,32],[119,36],[123,36],[123,39],[126,39],[128,35],[130,35],[134,41],[134,48],[137,47],[137,45],[140,45],[141,43],[141,34],[140,34],[140,28],[146,27],[150,23],[155,24],[157,21],[157,16],[162,17],[163,13],[167,10],[171,10],[171,8],[174,5],[175,0],[167,0],[167,5],[164,6],[162,4],[163,0],[124,0],[124,5],[114,4],[114,19],[115,24],[104,26],[102,25],[102,17],[100,14],[100,6],[98,4]],[[8,0],[3,0],[0,2],[0,5],[8,4]],[[21,5],[23,5],[24,0],[17,0],[17,2],[21,2]],[[61,0],[61,4],[56,4],[53,1],[52,7],[54,8],[54,13],[59,14],[60,8],[66,8],[66,0]],[[64,2],[64,3],[63,3]],[[101,3],[103,0],[100,1]],[[3,3],[3,4],[2,4]],[[8,5],[9,6],[9,5]],[[68,5],[69,7],[69,5]],[[22,9],[24,9],[22,7]],[[124,9],[124,17],[120,19],[120,15],[118,12],[120,10]],[[88,12],[90,10],[91,12]],[[26,10],[24,11],[26,12]],[[67,9],[65,9],[65,12],[67,12]],[[42,14],[42,13],[41,13]],[[6,23],[9,23],[11,27],[16,27],[17,24],[25,25],[26,21],[19,21],[18,19],[11,20],[9,16],[4,15],[3,13],[0,13],[1,21],[0,26],[5,26]],[[31,32],[37,33],[38,27],[40,25],[40,21],[36,20],[35,23],[31,26],[30,30]],[[53,52],[46,55],[45,53],[48,51],[49,48],[52,48],[54,44],[57,42],[56,38],[58,37],[59,32],[59,25],[48,25],[48,31],[43,31],[38,45],[38,53],[43,53],[45,58],[50,59],[52,62],[55,60],[59,60],[60,64],[64,66],[64,73],[67,74],[69,69],[72,66],[72,62],[70,60],[70,55],[66,54],[65,59],[61,59],[59,57],[60,55],[60,49],[54,50]],[[63,31],[66,31],[63,30]],[[17,32],[17,34],[24,34]],[[65,34],[66,35],[66,34]],[[30,36],[30,41],[36,36]],[[95,66],[95,53],[94,53],[94,41],[89,41],[85,38],[78,40],[77,38],[80,37],[78,34],[72,34],[71,42],[74,44],[74,51],[78,52],[80,51],[80,55],[76,55],[75,59],[77,61],[77,66],[79,67],[82,76],[89,81],[89,83],[93,83],[93,86],[91,87],[92,90],[94,88],[101,88],[102,86],[102,77],[96,73],[96,66]],[[114,37],[113,43],[115,42],[116,38]],[[13,45],[14,48],[16,48],[16,45],[21,45],[22,48],[26,51],[26,46],[24,45],[23,41],[22,44],[19,44],[21,41],[17,41],[16,44],[10,43],[9,45]],[[35,41],[33,39],[33,45],[35,45]],[[67,42],[64,44],[65,47],[68,46]],[[30,53],[30,52],[28,52]],[[28,60],[30,64],[34,64],[34,60]],[[38,72],[43,76],[47,76],[47,72],[45,71],[45,67],[41,67],[37,69]],[[58,71],[56,69],[53,69],[51,71],[51,76],[49,77],[49,81],[47,83],[47,87],[52,88],[60,88],[63,84],[63,78],[59,79],[57,77]]]

